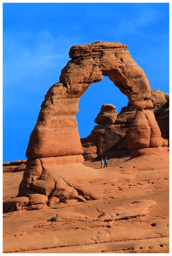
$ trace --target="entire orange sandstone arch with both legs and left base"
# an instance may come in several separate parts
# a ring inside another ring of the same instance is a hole
[[[97,179],[91,168],[82,165],[83,151],[75,115],[80,97],[91,83],[101,81],[102,75],[108,76],[137,110],[128,130],[132,157],[149,154],[152,148],[160,153],[161,146],[166,146],[149,110],[153,105],[147,77],[126,47],[121,43],[100,41],[71,47],[71,60],[62,69],[60,82],[51,86],[45,95],[30,135],[26,150],[29,160],[19,196],[44,194],[51,205],[58,198],[78,198],[78,192],[72,187],[74,181]]]

